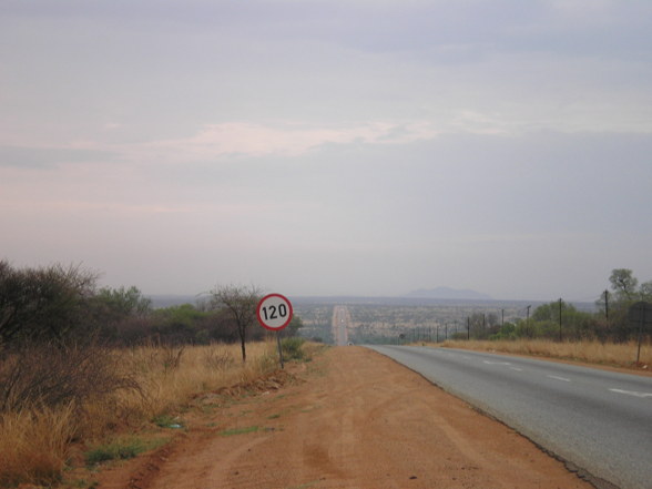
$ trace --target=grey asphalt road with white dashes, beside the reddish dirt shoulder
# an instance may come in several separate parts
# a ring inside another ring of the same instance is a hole
[[[652,377],[449,348],[373,346],[621,489],[652,488]],[[609,487],[609,485],[602,485]]]

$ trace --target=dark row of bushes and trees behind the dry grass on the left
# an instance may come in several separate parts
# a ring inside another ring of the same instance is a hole
[[[100,288],[98,279],[81,266],[18,268],[0,261],[0,350],[89,338],[115,346],[240,342],[245,359],[246,342],[268,335],[255,325],[256,286],[217,286],[195,304],[154,309],[137,287]],[[282,334],[300,327],[295,317]]]

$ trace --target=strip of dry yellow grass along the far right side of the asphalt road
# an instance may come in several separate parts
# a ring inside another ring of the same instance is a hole
[[[483,352],[502,352],[518,355],[532,355],[548,358],[584,361],[589,364],[609,365],[623,368],[650,369],[652,366],[652,345],[641,346],[641,357],[636,365],[638,344],[600,342],[557,343],[546,339],[518,339],[497,342],[454,342],[448,340],[441,346]]]

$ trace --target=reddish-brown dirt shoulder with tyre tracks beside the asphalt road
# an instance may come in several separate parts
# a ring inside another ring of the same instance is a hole
[[[197,399],[205,414],[189,419],[186,435],[105,472],[100,488],[591,487],[513,430],[368,349],[330,348],[291,369],[295,381],[230,406]]]

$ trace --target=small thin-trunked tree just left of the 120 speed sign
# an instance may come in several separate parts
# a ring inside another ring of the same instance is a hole
[[[261,300],[261,294],[262,291],[254,285],[248,287],[225,285],[211,291],[211,304],[213,308],[225,309],[233,320],[241,342],[243,363],[247,359],[247,330],[256,320],[256,306]]]

